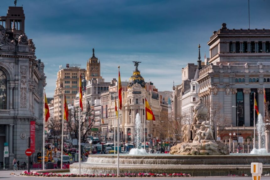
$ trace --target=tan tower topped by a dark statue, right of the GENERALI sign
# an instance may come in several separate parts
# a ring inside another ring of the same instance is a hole
[[[93,48],[93,56],[89,58],[86,69],[86,80],[89,81],[92,78],[102,79],[100,76],[100,61],[95,57],[95,49]]]

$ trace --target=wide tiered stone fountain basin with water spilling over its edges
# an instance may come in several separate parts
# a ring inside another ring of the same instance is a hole
[[[117,155],[91,155],[81,163],[81,173],[116,173]],[[192,176],[251,175],[251,162],[263,163],[263,174],[270,173],[270,155],[120,155],[120,173],[189,173]],[[70,165],[78,173],[78,163]]]

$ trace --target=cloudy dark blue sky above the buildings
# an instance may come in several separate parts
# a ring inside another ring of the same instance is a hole
[[[14,0],[0,0],[5,16]],[[222,23],[248,29],[248,0],[17,0],[24,7],[25,33],[45,64],[46,94],[54,95],[59,65],[100,59],[106,82],[128,81],[138,69],[159,91],[181,84],[181,68],[209,57],[207,42]],[[270,28],[270,1],[250,0],[250,28]]]

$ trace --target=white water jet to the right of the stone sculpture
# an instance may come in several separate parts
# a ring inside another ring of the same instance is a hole
[[[258,149],[253,148],[250,154],[267,154],[267,150],[265,149],[265,123],[261,114],[258,115],[256,130],[258,133]]]

